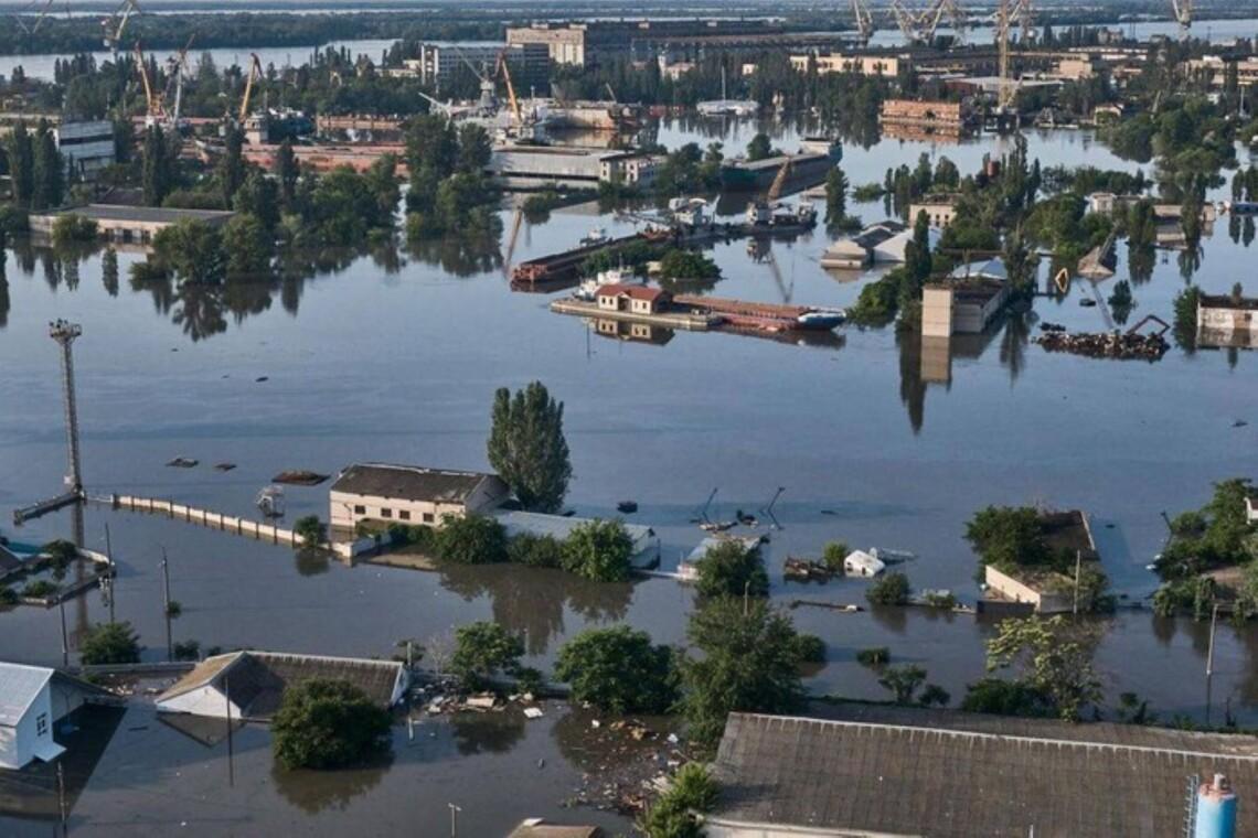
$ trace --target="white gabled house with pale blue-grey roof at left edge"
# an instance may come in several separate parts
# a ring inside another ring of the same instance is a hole
[[[65,749],[53,739],[53,725],[106,695],[101,687],[57,670],[0,662],[0,769],[60,756]]]

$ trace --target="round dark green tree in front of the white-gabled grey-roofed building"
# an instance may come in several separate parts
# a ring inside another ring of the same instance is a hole
[[[289,770],[348,768],[387,753],[391,727],[389,711],[348,681],[311,678],[284,690],[272,749]]]

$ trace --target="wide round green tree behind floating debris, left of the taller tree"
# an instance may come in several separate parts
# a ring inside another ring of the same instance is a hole
[[[667,712],[677,700],[673,652],[629,626],[590,628],[564,645],[555,677],[603,712]]]

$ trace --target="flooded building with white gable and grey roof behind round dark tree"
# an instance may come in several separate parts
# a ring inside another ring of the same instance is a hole
[[[410,683],[396,661],[230,652],[205,658],[157,696],[157,712],[226,719],[230,711],[231,719],[267,721],[289,685],[312,678],[348,681],[381,707],[401,701]]]

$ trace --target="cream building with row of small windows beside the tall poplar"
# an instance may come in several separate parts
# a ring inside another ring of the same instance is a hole
[[[346,529],[362,520],[435,525],[444,515],[496,509],[509,496],[498,475],[365,462],[332,484],[328,518],[332,526]]]

